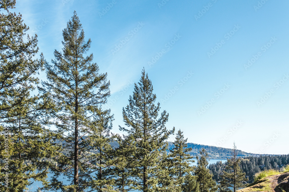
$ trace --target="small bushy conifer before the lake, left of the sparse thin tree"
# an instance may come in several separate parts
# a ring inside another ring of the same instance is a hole
[[[212,179],[212,174],[207,168],[209,157],[205,149],[200,150],[201,157],[196,157],[198,161],[198,166],[196,168],[195,174],[197,176],[197,182],[200,186],[201,192],[215,192],[217,191],[216,181]]]

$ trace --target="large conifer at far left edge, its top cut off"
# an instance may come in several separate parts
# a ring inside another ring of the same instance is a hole
[[[43,55],[34,59],[37,35],[25,34],[29,27],[21,14],[9,11],[15,4],[0,1],[0,191],[27,190],[30,179],[46,183],[47,167],[41,159],[52,147],[42,119],[53,106],[46,95],[31,95],[39,83],[35,75],[43,69]]]

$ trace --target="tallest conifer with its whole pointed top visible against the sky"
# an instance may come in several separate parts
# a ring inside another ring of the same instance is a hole
[[[57,164],[51,165],[55,175],[45,189],[79,192],[90,189],[92,173],[110,166],[103,166],[98,156],[91,153],[97,145],[98,126],[104,126],[104,122],[96,119],[102,113],[101,105],[110,95],[110,82],[107,74],[99,73],[97,64],[92,63],[93,55],[84,56],[91,41],[84,41],[84,31],[76,12],[63,30],[63,38],[62,52],[54,51],[54,65],[45,64],[48,81],[43,82],[42,89],[51,94],[57,106],[56,111],[50,114],[50,125],[57,128],[53,137],[63,149],[53,154],[53,159],[57,161]],[[70,184],[60,182],[60,176]]]

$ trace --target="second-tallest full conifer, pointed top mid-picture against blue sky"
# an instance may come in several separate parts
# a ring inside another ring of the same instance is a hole
[[[163,111],[158,118],[160,103],[155,105],[156,96],[153,86],[144,69],[138,85],[135,83],[133,96],[129,96],[129,105],[123,108],[123,121],[129,128],[120,126],[120,130],[132,135],[136,151],[130,160],[136,166],[130,170],[132,185],[143,192],[158,187],[156,167],[166,154],[166,139],[174,132],[165,127],[168,114]],[[159,166],[160,167],[160,166]]]

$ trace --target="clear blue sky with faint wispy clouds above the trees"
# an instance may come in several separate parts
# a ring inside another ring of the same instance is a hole
[[[288,8],[270,0],[17,0],[14,11],[50,62],[76,10],[94,62],[108,73],[113,132],[122,134],[122,108],[144,67],[170,114],[167,128],[188,142],[288,154]]]

